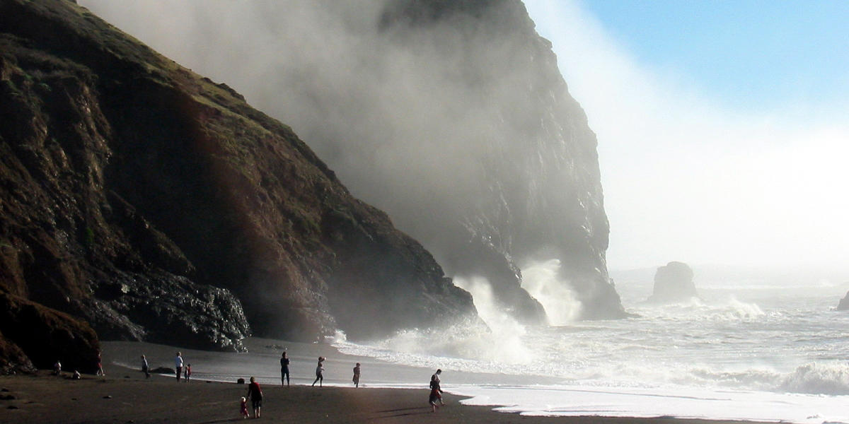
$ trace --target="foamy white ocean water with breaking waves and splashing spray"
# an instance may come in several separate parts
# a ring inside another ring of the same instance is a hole
[[[443,385],[466,403],[522,414],[849,422],[849,313],[834,310],[849,279],[697,278],[699,298],[651,305],[652,275],[626,274],[617,290],[636,316],[575,322],[580,304],[553,281],[558,265],[523,269],[528,291],[559,308],[556,325],[520,326],[492,307],[486,281],[457,280],[488,331],[458,323],[369,343],[340,335],[334,345],[446,376],[481,373]]]

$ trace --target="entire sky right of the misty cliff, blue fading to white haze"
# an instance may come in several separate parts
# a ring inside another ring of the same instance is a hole
[[[599,136],[610,269],[849,268],[849,2],[526,5]]]

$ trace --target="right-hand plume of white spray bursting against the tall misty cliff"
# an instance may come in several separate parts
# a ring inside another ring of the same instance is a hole
[[[543,305],[548,324],[565,326],[581,313],[581,302],[575,298],[569,284],[558,278],[559,259],[531,261],[522,270],[522,288]]]

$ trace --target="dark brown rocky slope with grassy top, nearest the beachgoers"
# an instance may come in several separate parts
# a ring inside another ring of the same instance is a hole
[[[475,315],[288,126],[65,0],[0,2],[0,216],[0,292],[104,338],[240,349]]]

